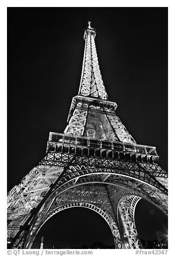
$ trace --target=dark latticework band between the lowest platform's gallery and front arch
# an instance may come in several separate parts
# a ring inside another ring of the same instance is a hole
[[[76,152],[72,152],[75,153]],[[48,158],[48,155],[52,155]],[[50,166],[58,166],[64,167],[69,163],[72,159],[73,155],[69,153],[56,153],[56,152],[49,152],[46,155],[46,158],[43,159],[40,164],[41,165],[50,165]],[[64,159],[61,161],[61,159]],[[142,166],[140,163],[137,162],[130,162],[115,158],[104,158],[104,157],[93,157],[87,155],[75,155],[75,165],[83,165],[86,168],[92,168],[92,172],[96,172],[96,168],[100,169],[101,172],[109,172],[109,173],[117,173],[120,175],[130,176],[133,179],[140,180],[142,182],[148,183],[151,186],[154,186],[165,193],[167,193],[167,188],[161,183],[161,180],[157,180],[157,176],[159,174],[159,170],[157,172],[157,165],[151,165],[150,163],[144,163]],[[83,170],[82,170],[83,172]],[[87,172],[87,169],[84,171]],[[154,175],[156,174],[156,175]],[[64,179],[71,179],[75,177],[76,172],[72,171],[71,169],[67,172]],[[163,172],[160,173],[161,177]],[[164,179],[163,179],[164,178]],[[164,177],[162,177],[164,183],[167,180],[167,174],[165,173]]]

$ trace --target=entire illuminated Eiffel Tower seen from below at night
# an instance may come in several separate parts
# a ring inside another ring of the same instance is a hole
[[[84,32],[78,95],[64,133],[49,133],[45,157],[8,193],[8,247],[31,248],[41,226],[70,207],[96,211],[115,248],[142,248],[134,214],[141,198],[167,214],[167,173],[156,147],[138,145],[108,101],[95,45]]]

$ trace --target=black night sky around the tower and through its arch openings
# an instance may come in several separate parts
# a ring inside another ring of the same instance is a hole
[[[108,99],[118,104],[116,113],[138,144],[156,146],[167,171],[167,8],[8,8],[8,191],[44,157],[49,131],[65,129],[81,79],[88,20],[97,30]],[[86,219],[85,227],[92,226],[87,229],[91,236],[97,225],[98,234],[106,233],[101,241],[112,245],[104,219],[86,209],[60,212],[43,232],[60,219],[65,224],[68,216],[75,220],[79,215]],[[69,223],[69,232],[77,230],[70,237],[77,240],[82,237],[80,223],[81,218],[78,228]],[[58,225],[55,230],[64,237],[68,227]],[[141,200],[136,225],[141,238],[155,239],[155,230],[167,229],[167,218]],[[95,234],[91,240],[97,240]]]

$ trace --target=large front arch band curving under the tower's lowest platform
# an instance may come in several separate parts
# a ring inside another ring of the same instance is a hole
[[[48,197],[48,199],[43,204],[43,207],[40,208],[40,210],[38,211],[38,214],[35,216],[34,221],[31,223],[30,232],[32,228],[35,226],[35,223],[37,222],[37,218],[39,217],[40,214],[42,215],[40,216],[41,219],[43,219],[43,216],[48,211],[50,204],[52,204],[54,198],[57,195],[61,194],[63,191],[71,187],[79,186],[81,184],[103,183],[103,184],[114,185],[116,187],[119,187],[120,189],[125,188],[125,190],[130,191],[130,194],[133,194],[133,190],[134,190],[135,195],[141,196],[152,203],[158,204],[160,209],[165,211],[166,207],[162,207],[162,204],[165,202],[161,198],[162,195],[166,196],[164,191],[159,190],[158,188],[155,188],[153,185],[148,184],[142,180],[139,180],[124,174],[120,174],[120,173],[114,173],[114,171],[101,172],[101,168],[89,168],[89,169],[90,170],[83,169],[83,171],[82,169],[79,169],[73,174],[72,177],[70,177],[71,174],[65,174],[65,176],[63,176],[62,178],[63,180],[61,179],[59,181],[62,184],[57,183],[57,185],[52,191],[52,194]],[[110,170],[110,168],[105,168],[105,170],[106,169]],[[96,172],[94,172],[94,170],[96,170]],[[69,179],[67,179],[66,175],[69,175]],[[138,183],[140,183],[141,186]],[[135,185],[136,187],[134,187]],[[150,191],[152,192],[150,193]],[[156,195],[157,197],[156,196],[154,197],[151,194]],[[161,203],[157,201],[158,199],[159,201],[161,201]]]

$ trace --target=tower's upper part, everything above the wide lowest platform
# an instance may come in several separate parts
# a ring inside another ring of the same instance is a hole
[[[78,95],[72,99],[65,134],[136,143],[116,116],[115,102],[107,101],[101,77],[96,44],[96,31],[88,23],[84,32],[84,56]],[[90,132],[89,132],[90,131]]]

